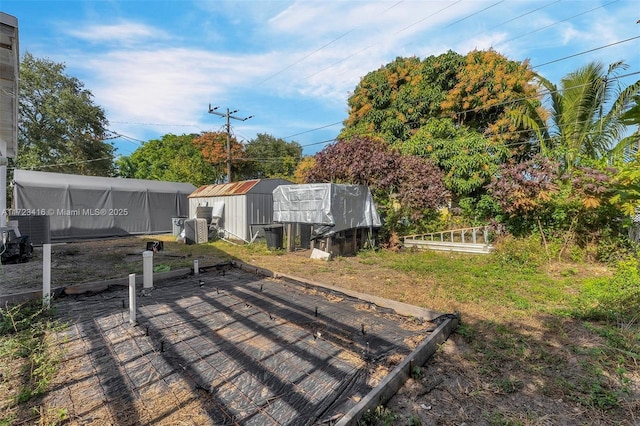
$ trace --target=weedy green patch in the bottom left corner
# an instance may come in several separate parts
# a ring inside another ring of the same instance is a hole
[[[62,356],[49,344],[48,333],[61,327],[39,301],[0,308],[0,425],[12,425],[19,417],[21,423],[48,419],[44,424],[66,418],[65,410],[50,413],[38,404]]]

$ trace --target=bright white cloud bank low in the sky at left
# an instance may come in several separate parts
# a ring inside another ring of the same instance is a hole
[[[112,120],[190,123],[212,98],[255,74],[248,58],[172,48],[114,51],[74,64],[94,73],[93,93]]]

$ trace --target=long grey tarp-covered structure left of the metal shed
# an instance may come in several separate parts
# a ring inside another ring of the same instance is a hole
[[[189,183],[14,171],[18,215],[46,215],[52,241],[158,234],[189,214]]]

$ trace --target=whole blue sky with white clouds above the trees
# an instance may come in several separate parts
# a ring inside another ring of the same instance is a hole
[[[494,49],[559,84],[592,61],[640,80],[638,0],[0,0],[20,54],[64,63],[118,155],[165,134],[298,142],[339,134],[362,77],[397,57]],[[249,118],[250,117],[250,118]]]

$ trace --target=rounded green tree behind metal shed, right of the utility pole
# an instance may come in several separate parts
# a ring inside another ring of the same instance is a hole
[[[302,159],[302,147],[297,142],[258,133],[244,146],[245,158],[252,164],[254,178],[293,179]]]

